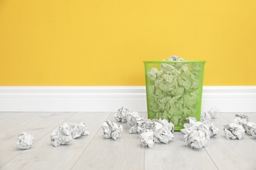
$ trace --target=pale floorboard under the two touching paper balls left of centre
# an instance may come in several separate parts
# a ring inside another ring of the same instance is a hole
[[[63,115],[66,114],[68,113],[64,113]],[[91,139],[93,139],[95,133],[98,131],[98,127],[108,115],[109,113],[102,112],[95,114],[79,112],[73,114],[71,117],[68,115],[69,118],[65,121],[60,118],[59,120],[61,120],[61,122],[56,122],[54,127],[51,127],[51,131],[47,131],[47,135],[44,135],[41,140],[33,144],[33,150],[32,148],[31,150],[24,150],[19,156],[13,158],[2,168],[19,169],[22,167],[22,169],[52,169],[54,167],[54,169],[71,169],[72,165],[77,161],[83,150],[90,143]],[[85,122],[90,133],[88,136],[75,139],[75,141],[72,141],[69,144],[54,147],[51,144],[50,135],[53,129],[58,126],[62,126],[64,122],[67,122],[68,124]],[[51,124],[53,124],[53,122]]]

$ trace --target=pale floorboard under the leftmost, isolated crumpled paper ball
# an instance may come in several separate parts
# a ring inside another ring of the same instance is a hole
[[[16,115],[20,116],[22,113],[17,113]],[[35,114],[35,113],[30,113]],[[45,112],[41,114],[37,114],[37,116],[32,116],[32,118],[20,123],[16,124],[16,118],[15,114],[13,115],[12,119],[10,120],[9,124],[12,124],[14,126],[10,127],[9,129],[3,131],[0,133],[0,167],[3,169],[3,165],[5,163],[12,161],[12,159],[16,158],[19,154],[22,153],[29,153],[27,155],[30,155],[30,152],[33,152],[33,146],[30,148],[30,150],[18,150],[15,148],[15,144],[17,142],[17,137],[22,131],[26,131],[28,133],[32,133],[33,137],[35,138],[35,144],[39,143],[41,141],[41,138],[44,137],[49,131],[52,131],[60,122],[63,122],[66,120],[66,118],[72,116],[74,113],[68,113],[68,114],[62,114],[62,113],[54,113],[54,112]],[[12,120],[14,123],[12,123]],[[2,120],[1,120],[2,121]],[[49,138],[49,136],[48,136]],[[49,143],[46,143],[49,144]],[[35,157],[38,157],[35,155]],[[18,156],[17,158],[21,158]],[[28,160],[26,160],[28,161]],[[14,165],[12,163],[9,163],[9,165]]]

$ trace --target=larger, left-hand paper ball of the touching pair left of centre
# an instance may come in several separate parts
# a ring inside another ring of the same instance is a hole
[[[72,132],[68,124],[64,124],[62,127],[54,129],[51,134],[51,141],[53,146],[60,146],[60,144],[67,144],[73,141]]]

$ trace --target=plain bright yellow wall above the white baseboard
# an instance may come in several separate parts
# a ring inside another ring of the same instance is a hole
[[[144,60],[205,59],[256,85],[256,1],[1,0],[0,86],[144,85]]]

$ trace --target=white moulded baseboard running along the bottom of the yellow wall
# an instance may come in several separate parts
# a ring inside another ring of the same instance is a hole
[[[0,86],[0,112],[146,112],[145,86]],[[203,86],[202,110],[256,112],[256,86]]]

